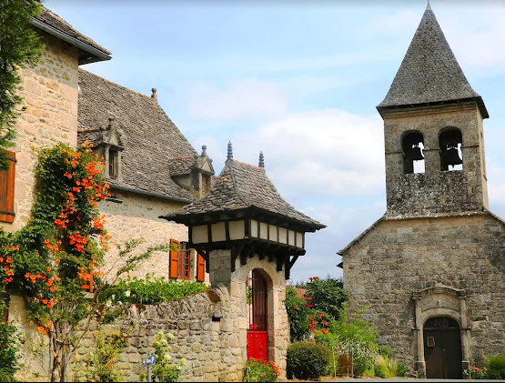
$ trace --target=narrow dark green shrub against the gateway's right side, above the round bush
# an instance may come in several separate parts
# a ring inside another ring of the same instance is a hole
[[[288,311],[291,342],[305,340],[309,334],[308,317],[310,311],[305,299],[298,297],[297,290],[294,287],[288,286],[284,304],[286,311]]]

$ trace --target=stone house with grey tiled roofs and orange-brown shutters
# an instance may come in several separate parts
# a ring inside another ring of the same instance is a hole
[[[139,250],[172,242],[179,248],[156,254],[131,273],[145,277],[206,280],[205,265],[185,246],[187,228],[158,218],[203,197],[214,170],[204,146],[201,155],[152,96],[140,95],[79,66],[111,59],[106,48],[42,7],[32,20],[45,44],[42,60],[22,70],[25,110],[16,123],[14,166],[0,174],[0,228],[15,231],[30,217],[35,196],[36,150],[58,142],[95,144],[106,161],[111,197],[99,205],[116,243],[143,237]],[[107,253],[107,266],[117,250]],[[119,266],[117,264],[116,266]],[[207,277],[208,278],[208,277]]]

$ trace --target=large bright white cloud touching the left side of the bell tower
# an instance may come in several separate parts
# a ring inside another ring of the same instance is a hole
[[[279,189],[334,197],[373,194],[384,184],[383,127],[379,116],[337,109],[299,113],[237,136],[237,159],[255,164],[265,154]]]

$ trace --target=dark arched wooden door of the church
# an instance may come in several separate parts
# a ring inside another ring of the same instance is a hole
[[[431,317],[424,324],[426,378],[460,379],[461,329],[451,317]]]

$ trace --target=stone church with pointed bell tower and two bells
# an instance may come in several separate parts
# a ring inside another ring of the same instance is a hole
[[[419,378],[465,378],[505,353],[505,222],[489,210],[488,111],[429,5],[377,109],[387,211],[338,252],[351,307]]]

